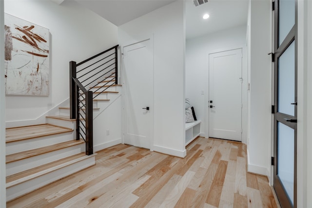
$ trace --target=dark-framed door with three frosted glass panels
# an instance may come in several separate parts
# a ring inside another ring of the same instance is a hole
[[[282,208],[296,208],[296,0],[275,0],[274,3],[273,187]]]

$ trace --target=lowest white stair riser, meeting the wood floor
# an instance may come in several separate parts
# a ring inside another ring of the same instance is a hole
[[[47,184],[71,175],[79,170],[86,169],[90,166],[95,165],[95,157],[89,157],[85,160],[79,161],[72,165],[66,166],[62,169],[49,172],[47,174],[41,175],[32,180],[26,181],[24,183],[18,184],[11,188],[6,189],[6,200],[13,200],[21,195],[29,193],[33,190],[39,189]]]

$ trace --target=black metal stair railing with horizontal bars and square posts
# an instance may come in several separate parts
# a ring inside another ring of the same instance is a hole
[[[117,47],[69,64],[70,118],[76,119],[76,139],[85,141],[87,155],[93,154],[93,99],[118,84]]]

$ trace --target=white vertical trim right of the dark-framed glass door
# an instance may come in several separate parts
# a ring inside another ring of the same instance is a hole
[[[311,129],[308,126],[309,116],[309,85],[311,80],[308,78],[310,68],[310,56],[311,48],[308,47],[311,39],[311,22],[308,17],[311,12],[311,4],[309,1],[297,1],[297,207],[306,208],[311,207],[309,200],[311,200],[311,194],[309,195],[310,176],[308,174],[308,167],[311,164],[308,154],[310,152],[309,142],[311,137],[308,135],[308,131]],[[308,9],[309,6],[309,9]],[[311,46],[311,43],[310,45]],[[310,53],[309,53],[310,52]],[[310,94],[311,95],[311,94]]]

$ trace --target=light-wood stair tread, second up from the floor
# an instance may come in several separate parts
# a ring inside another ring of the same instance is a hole
[[[29,151],[21,151],[18,153],[14,153],[14,154],[9,154],[6,155],[6,161],[5,163],[12,163],[12,162],[16,162],[25,158],[29,158],[29,157],[34,157],[40,154],[44,154],[44,153],[48,153],[51,151],[57,151],[60,149],[64,149],[67,147],[71,147],[71,146],[75,146],[75,145],[79,145],[84,143],[84,141],[81,140],[71,140],[71,141],[67,141],[67,142],[61,142],[55,145],[50,145],[50,146],[46,146],[46,147],[42,147],[42,148],[37,148],[37,149],[33,149],[33,150],[29,150]]]

